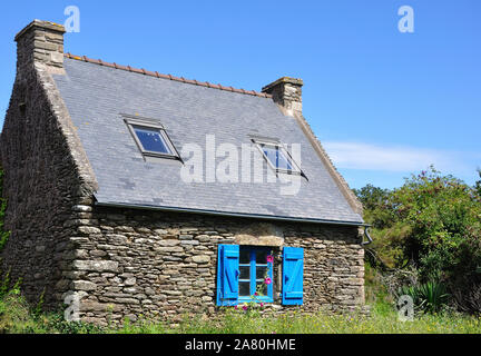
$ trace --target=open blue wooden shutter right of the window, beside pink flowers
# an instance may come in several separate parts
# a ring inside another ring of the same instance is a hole
[[[284,247],[283,250],[283,305],[303,304],[304,249]]]

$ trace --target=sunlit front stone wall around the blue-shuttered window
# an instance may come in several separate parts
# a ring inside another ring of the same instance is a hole
[[[70,287],[81,297],[80,317],[87,322],[121,322],[126,316],[136,320],[139,315],[176,320],[187,313],[215,313],[217,245],[238,243],[238,234],[258,224],[281,231],[284,246],[304,247],[303,309],[353,309],[364,303],[363,249],[355,227],[82,209],[88,211],[89,224],[79,226],[73,238]],[[281,249],[274,250],[276,295]],[[271,308],[283,309],[279,298],[275,299]]]

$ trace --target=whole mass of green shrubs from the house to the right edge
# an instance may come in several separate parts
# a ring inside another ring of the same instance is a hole
[[[374,243],[365,254],[373,266],[386,270],[409,263],[420,283],[441,281],[460,309],[477,309],[474,297],[459,296],[475,296],[481,286],[481,180],[470,187],[430,167],[392,191],[367,185],[354,192],[373,225]]]

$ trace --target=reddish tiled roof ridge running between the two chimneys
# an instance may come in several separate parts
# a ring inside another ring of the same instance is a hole
[[[159,73],[158,71],[146,70],[144,68],[139,69],[139,68],[132,68],[130,66],[120,66],[120,65],[117,65],[116,62],[112,62],[112,63],[105,62],[101,59],[91,59],[91,58],[88,58],[86,56],[81,56],[81,57],[80,56],[73,56],[70,52],[63,53],[63,56],[69,58],[69,59],[75,59],[75,60],[85,61],[85,62],[94,63],[94,65],[98,65],[98,66],[105,66],[105,67],[109,67],[109,68],[126,70],[126,71],[130,71],[130,72],[139,73],[139,75],[145,75],[145,76],[149,76],[149,77],[169,79],[169,80],[180,81],[180,82],[185,82],[185,83],[189,83],[189,85],[194,85],[194,86],[219,89],[219,90],[225,90],[225,91],[233,91],[233,92],[245,93],[245,95],[255,96],[255,97],[272,98],[272,95],[268,95],[265,92],[258,92],[255,90],[236,89],[233,87],[224,87],[222,85],[213,85],[208,81],[197,81],[195,79],[193,79],[193,80],[185,79],[184,77],[178,78],[178,77],[174,77],[171,75],[163,75],[163,73]]]

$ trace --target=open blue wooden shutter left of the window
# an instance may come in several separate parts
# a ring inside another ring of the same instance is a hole
[[[217,305],[237,305],[239,246],[219,245],[217,256]]]

